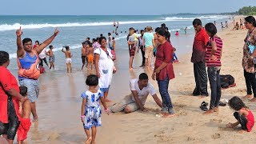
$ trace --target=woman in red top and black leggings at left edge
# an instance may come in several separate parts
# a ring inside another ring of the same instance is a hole
[[[2,136],[9,143],[14,142],[18,130],[18,101],[24,102],[25,98],[19,94],[18,82],[13,74],[7,69],[10,64],[9,54],[0,51],[0,122],[3,123]]]

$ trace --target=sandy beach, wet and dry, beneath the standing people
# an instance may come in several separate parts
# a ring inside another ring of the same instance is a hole
[[[236,18],[238,22],[238,17]],[[230,28],[218,32],[223,40],[221,74],[231,74],[237,86],[222,90],[222,98],[233,96],[242,98],[246,95],[246,82],[242,69],[242,46],[247,30]],[[192,45],[192,44],[191,44]],[[189,48],[188,48],[189,49]],[[192,50],[192,47],[190,47]],[[128,55],[128,51],[127,51]],[[109,98],[115,102],[130,94],[130,78],[138,78],[138,74],[152,70],[136,68],[128,70],[127,59],[117,62],[118,74],[114,75]],[[160,108],[150,96],[146,101],[147,113],[140,111],[131,114],[102,114],[102,126],[98,128],[96,143],[98,144],[130,144],[130,143],[253,143],[256,138],[255,126],[250,133],[238,134],[237,129],[227,129],[228,122],[235,122],[233,110],[229,106],[220,106],[219,112],[202,115],[199,106],[202,101],[210,102],[210,97],[192,96],[194,90],[193,64],[191,53],[183,55],[179,64],[174,64],[175,76],[170,81],[169,92],[176,116],[158,118]],[[141,59],[138,54],[134,61]],[[125,63],[124,63],[125,62]],[[140,63],[135,63],[135,67]],[[122,73],[121,73],[122,72]],[[40,95],[37,102],[39,121],[32,124],[27,143],[84,143],[86,134],[80,120],[82,98],[80,95],[86,87],[86,71],[74,74],[54,75],[52,71],[40,78]],[[48,77],[48,78],[47,78]],[[156,81],[150,82],[158,91]],[[209,82],[208,82],[209,83]],[[208,92],[210,86],[208,84]],[[160,97],[160,94],[158,97]],[[245,101],[246,106],[256,114],[254,102]],[[110,106],[111,104],[109,104]]]

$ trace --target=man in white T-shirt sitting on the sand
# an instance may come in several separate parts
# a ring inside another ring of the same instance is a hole
[[[162,108],[162,102],[158,98],[154,87],[149,83],[147,74],[142,73],[138,79],[130,80],[131,94],[122,99],[121,102],[114,104],[111,107],[113,113],[124,111],[126,114],[134,112],[136,110],[142,110],[146,112],[144,105],[146,98],[149,94],[152,95],[154,101]]]

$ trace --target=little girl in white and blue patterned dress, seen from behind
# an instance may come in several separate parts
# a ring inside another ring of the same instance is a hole
[[[101,90],[97,89],[98,86],[98,76],[91,74],[86,78],[86,85],[89,86],[89,90],[82,93],[82,111],[81,118],[84,129],[86,131],[88,143],[95,143],[96,137],[96,126],[102,126],[102,110],[99,105],[99,100],[101,100],[102,105],[106,114],[109,114],[109,110],[106,107],[106,102]],[[90,129],[92,130],[92,136],[90,134]]]

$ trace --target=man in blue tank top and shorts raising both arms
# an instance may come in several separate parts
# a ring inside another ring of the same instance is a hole
[[[38,70],[38,54],[54,40],[58,35],[58,29],[56,28],[54,34],[46,39],[42,45],[38,46],[36,50],[32,50],[32,40],[30,38],[24,38],[22,40],[22,28],[16,31],[17,35],[17,58],[18,58],[18,80],[21,86],[26,86],[28,89],[28,98],[31,102],[31,112],[34,117],[34,122],[38,121],[38,114],[36,111],[35,101],[39,94],[39,82],[40,71]]]

